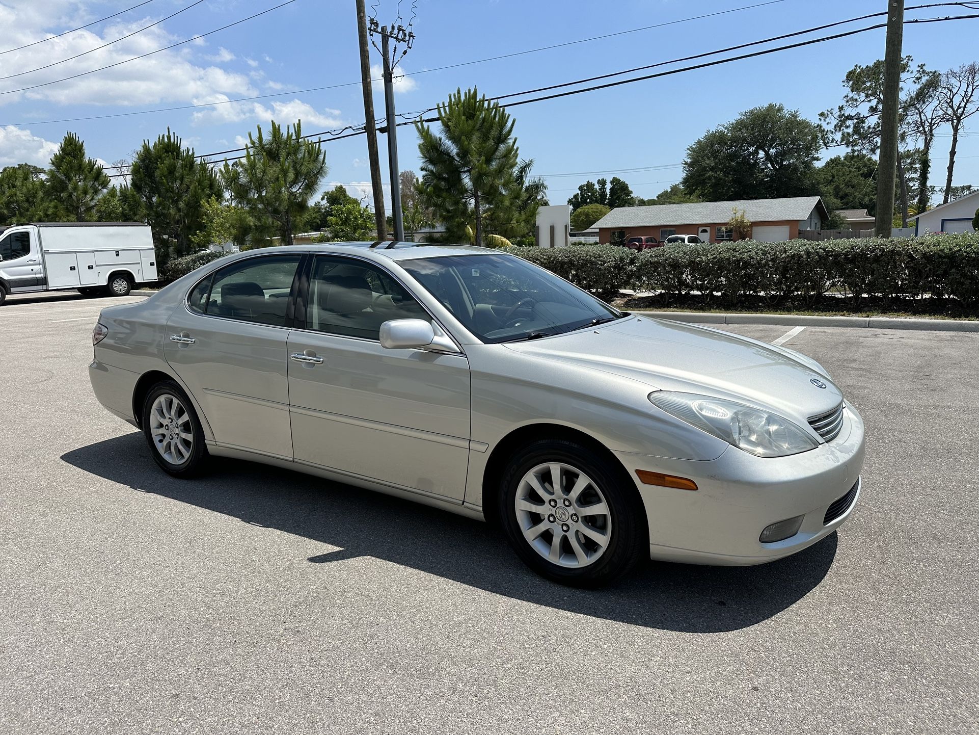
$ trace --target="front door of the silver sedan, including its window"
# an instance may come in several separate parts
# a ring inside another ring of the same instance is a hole
[[[461,503],[469,361],[381,347],[384,321],[431,317],[373,263],[315,256],[307,284],[289,335],[296,461]]]

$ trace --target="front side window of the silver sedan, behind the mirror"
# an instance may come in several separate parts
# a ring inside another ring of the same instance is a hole
[[[307,301],[306,329],[344,337],[379,339],[385,321],[431,320],[386,270],[340,256],[316,256]]]

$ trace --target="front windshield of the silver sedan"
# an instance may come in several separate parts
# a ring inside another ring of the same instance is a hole
[[[512,255],[443,256],[398,265],[484,342],[534,339],[625,316]]]

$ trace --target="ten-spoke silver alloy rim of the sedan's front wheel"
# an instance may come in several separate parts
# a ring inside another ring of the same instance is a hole
[[[537,465],[521,479],[514,506],[524,538],[552,564],[587,566],[608,548],[608,503],[581,469],[560,462]]]

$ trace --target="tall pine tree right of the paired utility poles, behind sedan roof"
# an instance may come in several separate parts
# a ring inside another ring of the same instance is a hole
[[[439,123],[441,134],[416,124],[423,196],[453,236],[464,236],[475,220],[475,242],[482,246],[484,213],[503,202],[515,177],[514,122],[474,88],[457,89],[440,104]]]

